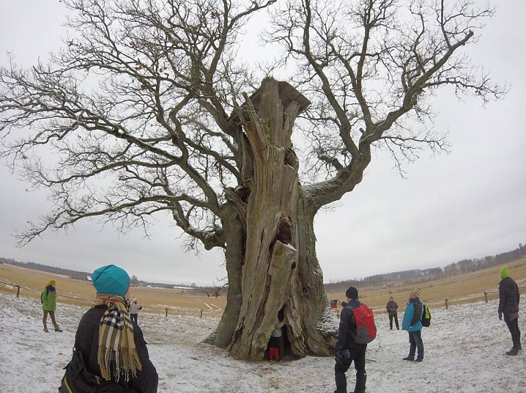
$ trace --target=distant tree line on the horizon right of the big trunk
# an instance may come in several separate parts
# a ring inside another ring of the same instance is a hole
[[[392,273],[371,275],[362,279],[331,282],[325,284],[325,290],[327,290],[327,293],[338,293],[345,292],[345,289],[349,286],[357,286],[364,290],[381,288],[386,286],[387,283],[390,283],[390,286],[394,287],[397,284],[393,284],[393,282],[399,282],[399,285],[402,286],[414,282],[438,280],[443,277],[451,277],[452,275],[477,271],[494,265],[502,265],[523,258],[524,256],[526,256],[526,245],[519,243],[518,248],[494,256],[459,260],[458,262],[453,262],[444,267],[395,271]]]

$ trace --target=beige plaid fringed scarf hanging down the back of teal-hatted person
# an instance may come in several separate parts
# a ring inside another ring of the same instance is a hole
[[[121,375],[129,381],[131,376],[136,377],[137,370],[142,370],[142,365],[135,347],[134,325],[129,319],[126,301],[118,295],[97,293],[95,306],[101,304],[108,306],[99,325],[97,363],[101,375],[107,381],[112,379],[112,374],[116,382]]]

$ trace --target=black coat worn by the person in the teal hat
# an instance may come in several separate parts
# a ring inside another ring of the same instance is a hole
[[[84,362],[88,370],[92,374],[99,375],[99,377],[101,377],[101,369],[97,363],[99,323],[107,308],[105,305],[90,308],[82,316],[77,334],[75,334],[75,348],[79,349],[84,355]],[[137,376],[130,379],[127,385],[132,386],[138,393],[157,393],[159,377],[155,366],[150,361],[145,338],[138,325],[134,325],[134,341],[140,364],[142,364],[142,370],[138,371]],[[119,384],[126,385],[126,382],[121,378]]]

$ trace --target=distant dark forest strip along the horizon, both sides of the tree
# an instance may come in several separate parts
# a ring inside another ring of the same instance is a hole
[[[458,262],[453,262],[444,267],[432,267],[429,269],[412,269],[404,271],[395,271],[393,273],[383,273],[377,275],[371,275],[364,277],[360,280],[345,280],[341,282],[331,282],[325,284],[325,290],[330,293],[341,292],[341,288],[347,288],[348,286],[357,286],[358,288],[373,289],[385,286],[388,282],[399,282],[400,285],[408,284],[408,282],[425,282],[431,280],[437,280],[443,277],[449,277],[461,273],[468,273],[471,271],[477,271],[486,267],[494,265],[501,265],[504,263],[512,262],[526,256],[526,245],[522,243],[518,244],[518,248],[503,252],[493,256],[485,256],[479,259],[464,259]],[[27,269],[34,269],[38,271],[47,271],[49,273],[66,275],[75,280],[87,280],[88,273],[86,271],[74,271],[69,269],[62,269],[60,267],[40,265],[40,263],[34,262],[18,262],[12,258],[0,257],[0,263],[8,263],[19,267],[25,267]],[[152,285],[164,288],[172,288],[173,284],[162,284],[162,283],[151,283],[137,280],[137,277],[132,276],[132,284],[141,285]],[[344,289],[345,290],[345,289]]]

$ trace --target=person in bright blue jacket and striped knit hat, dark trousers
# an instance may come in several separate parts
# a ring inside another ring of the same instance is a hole
[[[420,301],[420,288],[414,288],[409,295],[408,306],[405,308],[402,321],[402,330],[409,333],[409,355],[403,360],[422,362],[424,360],[424,343],[422,341],[422,302]],[[414,354],[418,350],[416,359]]]

